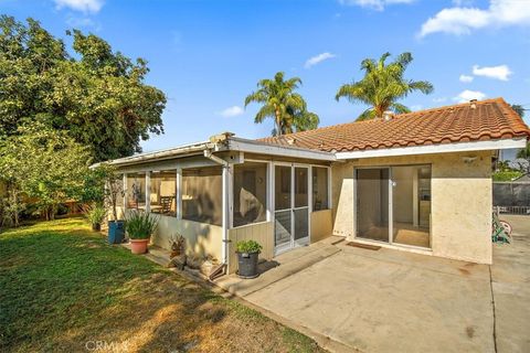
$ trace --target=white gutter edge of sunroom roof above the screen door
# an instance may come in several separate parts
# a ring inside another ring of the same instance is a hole
[[[225,146],[216,147],[218,151],[221,150],[231,150],[231,151],[241,151],[247,153],[258,153],[267,156],[282,156],[282,157],[293,157],[293,158],[304,158],[319,161],[335,161],[335,153],[310,150],[306,148],[298,147],[287,147],[279,145],[265,143],[256,140],[247,140],[237,137],[230,137],[226,140]]]

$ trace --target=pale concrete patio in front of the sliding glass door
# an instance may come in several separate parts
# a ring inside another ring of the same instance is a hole
[[[486,265],[328,240],[279,256],[257,279],[216,285],[352,351],[530,352],[530,222],[512,223],[515,244],[495,245],[491,275]]]

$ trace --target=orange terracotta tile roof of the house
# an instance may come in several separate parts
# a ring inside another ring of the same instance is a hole
[[[395,115],[259,139],[262,142],[322,151],[356,151],[529,137],[522,119],[502,99]]]

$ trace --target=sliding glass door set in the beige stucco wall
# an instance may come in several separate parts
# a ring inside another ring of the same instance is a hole
[[[357,169],[357,237],[431,247],[431,165]]]

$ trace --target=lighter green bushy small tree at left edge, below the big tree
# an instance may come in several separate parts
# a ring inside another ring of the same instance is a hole
[[[12,195],[34,200],[51,220],[61,203],[80,199],[91,161],[88,148],[66,131],[34,122],[19,127],[18,133],[0,143],[0,180]]]

